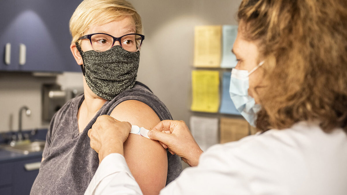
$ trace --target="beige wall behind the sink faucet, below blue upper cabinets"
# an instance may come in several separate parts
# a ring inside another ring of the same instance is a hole
[[[76,65],[77,66],[77,65]],[[57,76],[33,76],[32,73],[0,73],[0,132],[18,129],[19,109],[26,105],[29,117],[23,114],[23,129],[46,128],[41,120],[42,84],[58,83],[63,88],[81,88],[82,73]]]

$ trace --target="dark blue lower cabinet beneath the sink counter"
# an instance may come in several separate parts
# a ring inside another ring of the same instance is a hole
[[[32,156],[25,160],[0,163],[0,194],[24,195],[30,194],[39,169],[28,170],[28,164],[41,162],[41,156]]]

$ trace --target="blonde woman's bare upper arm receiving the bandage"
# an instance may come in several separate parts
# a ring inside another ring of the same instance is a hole
[[[110,116],[149,130],[160,122],[159,117],[148,105],[136,100],[120,103]],[[143,194],[159,194],[166,184],[166,149],[158,141],[129,134],[124,143],[124,157]]]

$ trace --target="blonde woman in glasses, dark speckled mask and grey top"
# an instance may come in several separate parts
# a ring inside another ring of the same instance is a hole
[[[84,93],[53,117],[31,194],[84,193],[99,166],[87,135],[98,116],[110,115],[146,129],[171,119],[158,97],[136,82],[144,35],[141,18],[129,2],[84,0],[71,17],[70,31],[70,49],[84,75]],[[178,156],[158,141],[132,134],[122,145],[145,194],[158,194],[182,170]]]

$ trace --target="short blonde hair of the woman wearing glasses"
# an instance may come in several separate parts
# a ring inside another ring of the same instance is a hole
[[[131,16],[136,33],[142,33],[141,17],[131,3],[126,0],[84,0],[76,8],[70,19],[71,43],[84,36],[91,26],[107,24],[123,17]]]

